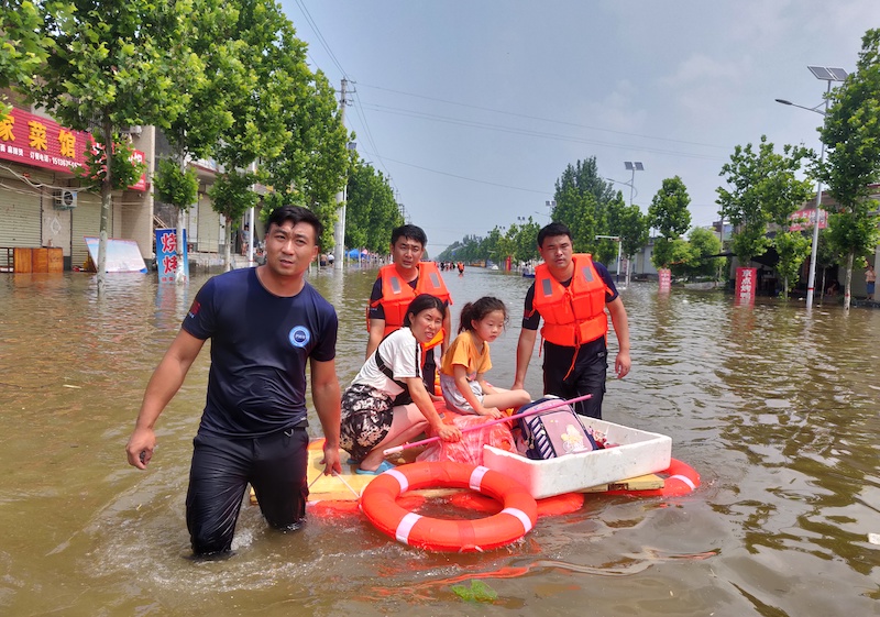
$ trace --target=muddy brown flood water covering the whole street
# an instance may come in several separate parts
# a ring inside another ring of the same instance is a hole
[[[340,316],[343,387],[363,360],[374,278],[310,276]],[[99,300],[90,275],[0,275],[1,615],[880,615],[878,310],[735,307],[632,284],[632,372],[609,381],[604,417],[671,436],[702,476],[695,493],[588,495],[476,554],[411,549],[360,515],[282,535],[245,506],[235,555],[194,562],[184,499],[207,350],[158,422],[148,471],[124,445],[205,279],[110,275]],[[509,386],[530,280],[479,268],[446,279],[455,324],[466,300],[508,304],[488,376]],[[536,346],[526,386],[537,396],[540,384]],[[453,590],[473,581],[497,598]]]

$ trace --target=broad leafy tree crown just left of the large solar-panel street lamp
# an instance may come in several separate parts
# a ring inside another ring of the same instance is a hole
[[[734,225],[732,249],[743,266],[767,252],[772,242],[766,238],[767,224],[788,225],[789,214],[810,196],[811,183],[795,174],[809,151],[785,145],[776,153],[773,144],[761,135],[758,152],[751,144],[736,146],[730,162],[722,167],[729,189],[718,187],[722,217]]]

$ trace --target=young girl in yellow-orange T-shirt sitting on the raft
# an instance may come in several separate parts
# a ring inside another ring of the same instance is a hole
[[[490,386],[484,375],[492,368],[488,344],[507,322],[507,308],[498,298],[484,296],[461,309],[459,335],[443,354],[440,389],[447,407],[461,414],[503,418],[502,409],[531,401],[522,389]]]

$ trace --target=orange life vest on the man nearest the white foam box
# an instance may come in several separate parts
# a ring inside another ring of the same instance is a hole
[[[541,337],[557,345],[579,348],[608,333],[605,294],[608,291],[593,258],[572,255],[574,274],[564,287],[553,278],[547,264],[535,268],[532,307],[541,313]]]

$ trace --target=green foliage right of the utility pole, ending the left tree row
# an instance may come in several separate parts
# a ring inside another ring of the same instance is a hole
[[[404,217],[387,178],[359,161],[349,177],[345,246],[386,253],[392,231],[402,224]]]

